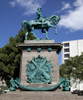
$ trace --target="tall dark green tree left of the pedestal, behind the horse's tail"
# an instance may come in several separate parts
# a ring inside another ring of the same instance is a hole
[[[24,42],[25,33],[26,30],[20,30],[15,38],[10,37],[9,43],[0,48],[0,76],[6,80],[7,84],[11,77],[19,77],[21,51],[16,48],[16,44]],[[36,39],[31,33],[27,38],[28,40]]]

